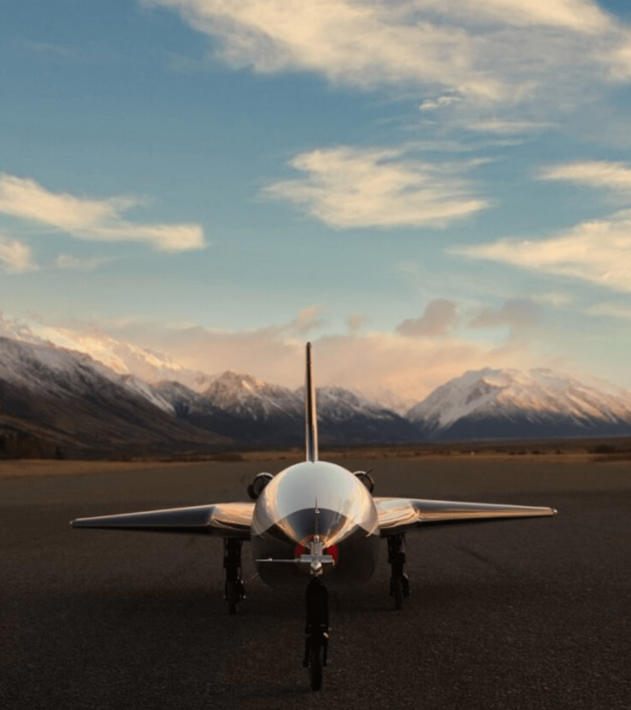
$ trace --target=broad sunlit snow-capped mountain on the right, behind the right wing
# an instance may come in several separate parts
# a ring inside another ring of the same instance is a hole
[[[486,368],[437,388],[406,417],[431,439],[629,434],[631,393],[547,369]]]

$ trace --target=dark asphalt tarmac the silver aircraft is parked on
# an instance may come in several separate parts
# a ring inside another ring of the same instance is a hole
[[[384,542],[366,586],[331,594],[319,693],[300,665],[302,594],[264,586],[249,546],[248,599],[229,616],[220,538],[68,525],[243,500],[255,473],[284,463],[0,471],[0,707],[631,707],[629,462],[341,461],[373,468],[375,495],[550,505],[559,515],[407,535],[412,596],[398,612]]]

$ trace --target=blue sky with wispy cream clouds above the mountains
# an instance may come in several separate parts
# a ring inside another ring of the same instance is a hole
[[[0,332],[292,387],[311,340],[320,383],[406,401],[631,388],[628,3],[0,13]]]

